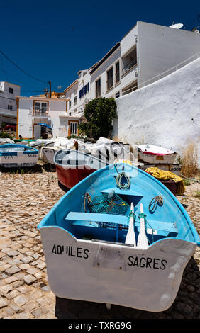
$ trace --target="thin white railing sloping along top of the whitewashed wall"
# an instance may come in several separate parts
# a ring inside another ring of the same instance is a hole
[[[138,89],[143,88],[143,86],[148,86],[148,84],[152,84],[153,82],[156,82],[156,81],[162,79],[163,77],[167,77],[167,75],[170,75],[170,74],[176,72],[178,69],[184,67],[186,64],[189,64],[190,62],[193,62],[194,60],[198,59],[199,57],[200,57],[200,52],[196,53],[196,55],[192,55],[187,60],[184,60],[183,62],[180,62],[176,66],[174,66],[174,67],[172,67],[170,69],[167,69],[167,71],[162,72],[161,74],[158,74],[155,77],[152,77],[151,79],[148,79],[147,81],[145,81],[142,84],[140,84],[140,87],[134,86],[131,89],[123,91],[122,94],[123,95],[130,94],[132,91],[135,90],[135,88],[138,88]]]

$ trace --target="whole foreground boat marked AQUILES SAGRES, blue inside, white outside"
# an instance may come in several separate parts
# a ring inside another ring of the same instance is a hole
[[[167,187],[124,163],[80,181],[38,229],[55,295],[152,312],[172,305],[200,246]]]

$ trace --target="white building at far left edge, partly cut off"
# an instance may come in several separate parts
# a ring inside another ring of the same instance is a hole
[[[20,96],[21,86],[9,82],[0,82],[0,128],[2,124],[16,125],[16,96]]]

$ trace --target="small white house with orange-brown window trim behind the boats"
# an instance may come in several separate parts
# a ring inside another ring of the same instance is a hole
[[[52,128],[53,137],[77,135],[79,118],[68,115],[68,100],[62,95],[52,92],[51,96],[16,97],[17,139],[39,139],[43,132],[48,131],[45,125]]]

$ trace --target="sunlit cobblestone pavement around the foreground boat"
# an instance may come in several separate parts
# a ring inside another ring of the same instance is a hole
[[[21,173],[22,172],[22,173]],[[0,318],[4,319],[200,319],[200,249],[184,270],[179,293],[164,312],[57,298],[48,286],[37,225],[65,193],[55,171],[41,165],[32,171],[0,171]],[[200,184],[187,186],[178,199],[200,234]]]

